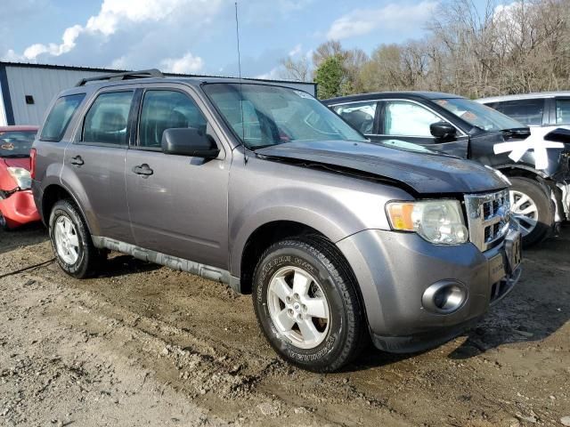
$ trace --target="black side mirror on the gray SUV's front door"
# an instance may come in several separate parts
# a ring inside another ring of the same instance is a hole
[[[163,153],[179,156],[216,158],[220,154],[212,137],[194,127],[167,129],[161,146]]]

